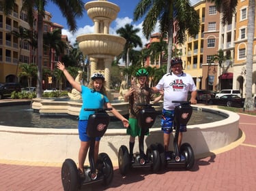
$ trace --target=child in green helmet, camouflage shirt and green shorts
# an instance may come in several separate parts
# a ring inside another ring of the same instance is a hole
[[[137,114],[139,113],[141,106],[138,103],[150,104],[150,101],[157,103],[162,99],[162,94],[159,97],[154,97],[154,93],[147,86],[148,72],[146,69],[139,69],[136,73],[136,80],[132,81],[132,86],[128,92],[124,95],[124,101],[129,101],[130,114],[129,114],[129,124],[130,128],[127,129],[126,133],[130,135],[129,150],[130,150],[130,160],[134,162],[133,158],[133,148],[135,137],[141,136],[141,128],[138,126]],[[162,93],[162,92],[160,92]],[[147,132],[148,135],[148,132]]]

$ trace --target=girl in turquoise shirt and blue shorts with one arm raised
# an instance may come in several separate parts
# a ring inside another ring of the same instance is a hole
[[[79,114],[79,139],[81,140],[81,146],[79,149],[79,175],[81,179],[85,178],[84,172],[84,163],[85,158],[89,149],[91,138],[88,137],[87,122],[90,114],[94,114],[94,111],[85,111],[85,108],[100,109],[100,108],[112,108],[111,113],[117,117],[119,120],[122,120],[124,126],[128,128],[129,122],[124,116],[119,114],[119,112],[111,105],[109,99],[106,97],[106,90],[104,88],[104,75],[101,73],[94,73],[91,75],[91,80],[88,87],[81,85],[79,82],[76,82],[74,78],[68,73],[65,68],[65,65],[61,62],[57,63],[57,68],[63,71],[68,82],[72,85],[73,88],[81,92],[83,105]],[[100,137],[96,137],[95,150],[94,150],[94,160],[98,158],[100,145]]]

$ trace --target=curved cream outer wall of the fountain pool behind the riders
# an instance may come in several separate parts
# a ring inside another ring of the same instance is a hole
[[[197,108],[202,111],[209,109],[203,106]],[[225,147],[239,138],[238,114],[223,109],[211,108],[211,110],[222,112],[228,118],[218,122],[188,126],[183,141],[190,143],[196,156]],[[61,163],[66,158],[73,158],[77,161],[80,145],[76,129],[0,126],[0,139],[0,156],[4,160]],[[150,135],[145,137],[145,150],[150,144],[156,142],[162,143],[160,127],[150,129]],[[128,143],[129,136],[126,135],[125,128],[108,129],[100,142],[100,152],[109,154],[113,164],[117,166],[119,147],[121,145],[128,147]],[[172,147],[171,143],[170,148]],[[136,143],[134,152],[138,150],[138,143]]]

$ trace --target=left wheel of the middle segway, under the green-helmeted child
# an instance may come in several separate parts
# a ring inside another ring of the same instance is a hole
[[[121,175],[126,175],[130,167],[130,156],[128,148],[125,145],[119,147],[118,151],[118,166]]]

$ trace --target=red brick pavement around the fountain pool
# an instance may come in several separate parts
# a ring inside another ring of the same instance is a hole
[[[244,132],[244,142],[238,140],[225,152],[196,160],[191,171],[166,169],[153,174],[149,169],[134,169],[122,177],[115,167],[111,185],[84,190],[255,190],[256,117],[240,114],[240,129]],[[1,191],[63,190],[61,167],[4,164],[1,160],[0,163]]]

